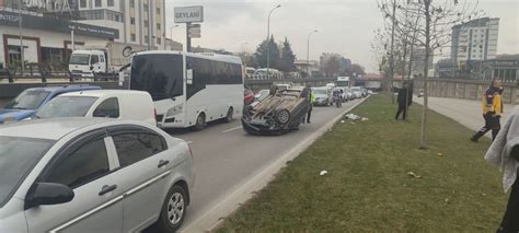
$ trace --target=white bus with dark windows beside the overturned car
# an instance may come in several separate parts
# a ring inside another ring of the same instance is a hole
[[[151,94],[161,128],[231,121],[243,109],[243,68],[239,57],[181,51],[134,55],[130,89]]]

